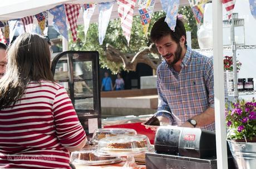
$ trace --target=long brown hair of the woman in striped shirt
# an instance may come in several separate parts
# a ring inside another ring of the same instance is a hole
[[[19,35],[8,48],[7,59],[6,73],[0,79],[0,110],[20,99],[29,81],[54,81],[50,48],[41,35]]]

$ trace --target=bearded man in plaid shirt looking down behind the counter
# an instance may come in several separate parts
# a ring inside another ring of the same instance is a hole
[[[156,71],[157,116],[165,115],[169,121],[173,120],[172,125],[214,131],[213,59],[186,45],[186,30],[180,19],[174,32],[165,17],[160,18],[153,25],[150,37],[163,57]]]

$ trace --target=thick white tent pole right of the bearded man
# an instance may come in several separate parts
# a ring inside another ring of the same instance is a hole
[[[216,150],[218,169],[228,168],[225,129],[225,95],[223,63],[223,18],[221,1],[213,1],[213,70]]]

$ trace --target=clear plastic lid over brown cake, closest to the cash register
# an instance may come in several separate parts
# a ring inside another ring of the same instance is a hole
[[[151,150],[149,138],[145,135],[114,136],[101,139],[97,154],[100,155],[129,155]]]

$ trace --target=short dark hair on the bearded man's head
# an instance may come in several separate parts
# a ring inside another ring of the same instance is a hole
[[[158,19],[153,25],[150,33],[150,38],[152,42],[156,42],[156,40],[160,40],[166,35],[171,35],[171,39],[173,39],[176,43],[180,42],[180,38],[184,35],[186,39],[186,29],[183,22],[177,18],[175,31],[171,30],[168,24],[164,21],[165,17]],[[186,40],[185,40],[186,44]]]

